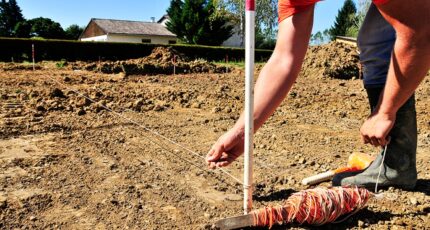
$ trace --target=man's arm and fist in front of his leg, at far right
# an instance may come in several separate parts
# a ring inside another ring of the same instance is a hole
[[[396,30],[397,39],[379,105],[360,131],[365,143],[385,146],[396,112],[430,68],[430,1],[390,0],[378,9]]]

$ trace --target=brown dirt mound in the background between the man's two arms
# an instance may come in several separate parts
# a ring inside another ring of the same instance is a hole
[[[303,62],[302,72],[304,76],[311,77],[359,78],[360,63],[357,47],[338,42],[311,46]]]

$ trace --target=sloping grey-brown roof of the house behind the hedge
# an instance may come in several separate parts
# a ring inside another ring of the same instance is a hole
[[[176,35],[167,30],[166,27],[154,22],[98,18],[93,18],[91,20],[107,34],[158,35],[176,37]]]

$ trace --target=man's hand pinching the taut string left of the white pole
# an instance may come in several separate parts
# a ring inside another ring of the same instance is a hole
[[[206,163],[211,169],[227,166],[243,153],[243,149],[243,131],[231,129],[212,146],[206,156]]]

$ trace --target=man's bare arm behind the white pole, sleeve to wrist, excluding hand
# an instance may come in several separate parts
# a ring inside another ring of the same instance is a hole
[[[254,128],[258,130],[281,104],[297,79],[312,30],[313,7],[279,25],[275,50],[254,88]],[[235,129],[243,130],[243,114]]]

